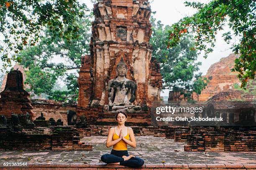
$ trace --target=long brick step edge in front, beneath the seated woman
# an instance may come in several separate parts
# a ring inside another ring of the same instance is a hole
[[[88,147],[89,148],[89,147]],[[85,150],[85,149],[84,149]],[[89,149],[88,149],[89,150]],[[92,150],[92,149],[91,149]],[[157,159],[157,158],[156,158]],[[199,161],[196,163],[187,163],[184,161],[184,163],[144,163],[141,167],[135,168],[135,170],[139,170],[143,168],[144,170],[152,170],[152,169],[160,169],[161,170],[169,170],[169,169],[178,169],[178,170],[191,170],[191,169],[201,169],[201,170],[208,170],[214,169],[214,170],[247,170],[247,169],[255,169],[256,168],[256,163],[211,163],[210,160],[208,161],[209,163],[200,163]],[[36,167],[36,168],[31,168],[31,167]],[[79,161],[77,163],[38,163],[38,162],[31,162],[28,165],[28,168],[23,168],[23,169],[44,169],[44,170],[53,170],[53,169],[59,169],[59,168],[65,168],[65,169],[79,169],[79,170],[91,170],[93,168],[101,168],[104,170],[131,170],[134,168],[130,167],[124,167],[121,165],[108,165],[106,163],[84,163],[82,161]],[[78,168],[79,167],[79,168]],[[0,168],[6,168],[3,165],[0,165]],[[6,168],[7,169],[7,168]],[[16,168],[15,168],[16,169]],[[19,168],[18,168],[19,169]]]

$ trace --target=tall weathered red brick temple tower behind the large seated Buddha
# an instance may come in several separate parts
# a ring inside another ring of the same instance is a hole
[[[159,63],[151,57],[148,0],[98,0],[94,5],[91,55],[82,57],[79,72],[78,115],[95,120],[108,104],[108,81],[123,57],[127,78],[136,82],[135,105],[150,115],[151,102],[160,100]]]

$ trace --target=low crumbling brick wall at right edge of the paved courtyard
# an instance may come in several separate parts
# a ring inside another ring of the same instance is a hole
[[[185,151],[256,151],[255,127],[191,127]]]

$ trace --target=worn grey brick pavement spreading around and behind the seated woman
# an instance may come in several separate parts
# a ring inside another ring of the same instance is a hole
[[[88,168],[89,165],[105,167],[106,165],[100,161],[100,156],[111,151],[111,148],[105,146],[106,139],[106,136],[84,138],[84,141],[93,145],[92,151],[1,150],[0,165],[3,168],[5,162],[27,162],[28,165],[41,167],[50,165],[66,168],[73,165],[80,168],[84,166]],[[136,136],[136,143],[136,149],[128,146],[128,153],[142,158],[146,168],[168,168],[168,166],[171,168],[174,165],[174,168],[189,169],[211,167],[232,169],[234,166],[238,168],[238,165],[242,169],[246,168],[245,166],[256,168],[256,152],[185,152],[186,143],[153,136]]]

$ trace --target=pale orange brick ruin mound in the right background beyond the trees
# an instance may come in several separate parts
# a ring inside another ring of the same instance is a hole
[[[249,92],[243,92],[238,90],[241,85],[237,77],[238,72],[231,72],[230,70],[234,67],[234,60],[238,57],[239,55],[230,54],[228,57],[223,57],[219,62],[212,64],[207,74],[203,76],[207,77],[210,82],[200,95],[194,93],[193,99],[207,101],[217,95],[218,100],[255,100],[256,95],[251,92],[256,90],[256,80],[249,80],[247,87]]]

